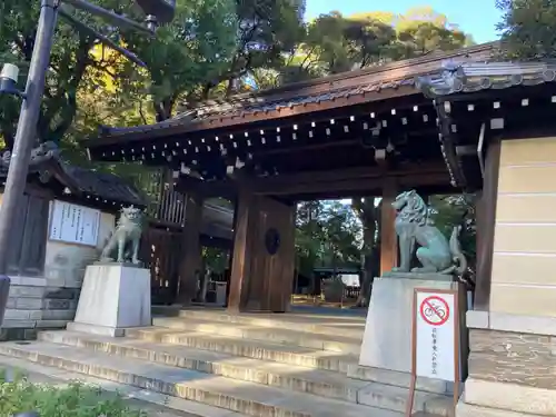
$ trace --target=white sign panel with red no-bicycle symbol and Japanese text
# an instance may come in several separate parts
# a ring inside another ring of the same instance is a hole
[[[418,291],[416,296],[416,374],[454,381],[456,378],[456,299],[454,292]]]

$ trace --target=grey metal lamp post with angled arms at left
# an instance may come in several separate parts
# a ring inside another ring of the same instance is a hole
[[[147,27],[145,27],[85,0],[63,0],[63,2],[109,20],[118,27],[131,28],[147,33],[153,33],[157,20],[162,23],[171,21],[176,9],[176,0],[137,0],[137,3],[147,14]],[[18,91],[16,88],[18,79],[17,67],[6,64],[0,72],[0,93],[19,96],[23,101],[0,207],[0,277],[7,274],[10,229],[26,188],[58,14],[68,18],[71,23],[78,26],[78,29],[86,29],[89,32],[98,34],[103,43],[119,50],[128,59],[133,60],[135,57],[131,52],[115,44],[108,38],[102,37],[102,34],[95,32],[93,29],[88,28],[85,23],[71,18],[70,13],[63,9],[62,0],[41,0],[37,37],[34,39],[34,48],[24,91]],[[138,59],[133,60],[133,62],[142,63]],[[2,307],[4,306],[0,306],[0,309],[3,311]]]

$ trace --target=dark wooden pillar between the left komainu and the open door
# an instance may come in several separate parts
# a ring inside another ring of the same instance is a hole
[[[181,261],[177,301],[189,305],[197,294],[197,280],[202,267],[200,232],[202,224],[202,198],[196,193],[186,195],[186,222],[181,240]]]

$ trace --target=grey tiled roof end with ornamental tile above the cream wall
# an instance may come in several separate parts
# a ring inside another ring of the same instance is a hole
[[[537,86],[556,79],[556,62],[464,62],[445,64],[440,71],[417,79],[428,97]]]

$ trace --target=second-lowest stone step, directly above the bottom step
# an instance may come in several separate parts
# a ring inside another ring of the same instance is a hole
[[[60,330],[40,332],[39,339],[355,404],[357,404],[357,393],[368,385],[367,381],[351,379],[346,375],[329,370],[268,363],[130,338],[111,338]]]

